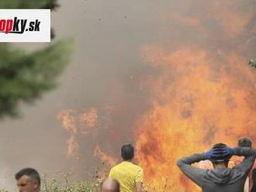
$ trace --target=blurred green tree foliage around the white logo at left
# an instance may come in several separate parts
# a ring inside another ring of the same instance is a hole
[[[57,6],[57,0],[0,2],[1,9],[56,9]],[[70,39],[61,40],[26,53],[11,43],[0,43],[0,118],[16,117],[20,101],[34,101],[57,86],[57,75],[67,65],[71,45]]]

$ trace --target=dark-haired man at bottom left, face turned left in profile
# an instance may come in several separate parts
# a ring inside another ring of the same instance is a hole
[[[25,168],[15,175],[19,192],[39,192],[40,175],[33,168]]]

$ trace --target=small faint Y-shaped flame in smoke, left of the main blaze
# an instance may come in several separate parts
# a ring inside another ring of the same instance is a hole
[[[74,157],[79,149],[77,136],[80,134],[87,135],[92,128],[98,125],[98,113],[95,108],[77,115],[75,111],[67,109],[61,111],[57,118],[61,120],[62,126],[70,133],[70,138],[67,139],[67,156]],[[78,156],[76,156],[79,159]]]

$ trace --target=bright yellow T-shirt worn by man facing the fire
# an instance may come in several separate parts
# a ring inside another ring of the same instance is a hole
[[[117,180],[120,192],[137,192],[136,182],[143,183],[143,170],[140,166],[123,161],[112,167],[109,178]]]

